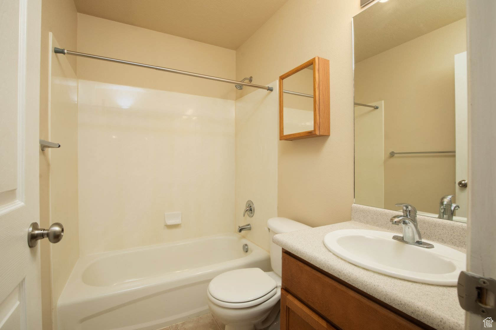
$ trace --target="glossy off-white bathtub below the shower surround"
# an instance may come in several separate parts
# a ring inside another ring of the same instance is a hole
[[[250,267],[270,271],[269,254],[235,233],[83,256],[57,303],[58,329],[161,329],[208,313],[210,280]]]

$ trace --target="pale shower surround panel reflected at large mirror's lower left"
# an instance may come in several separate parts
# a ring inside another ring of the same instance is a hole
[[[355,106],[355,203],[384,208],[384,101]]]

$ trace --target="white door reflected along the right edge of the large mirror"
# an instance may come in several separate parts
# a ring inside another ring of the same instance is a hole
[[[468,193],[467,188],[458,187],[458,182],[467,180],[468,176],[468,115],[467,115],[467,52],[455,55],[455,131],[456,131],[456,173],[455,201],[460,205],[456,216],[467,217]]]

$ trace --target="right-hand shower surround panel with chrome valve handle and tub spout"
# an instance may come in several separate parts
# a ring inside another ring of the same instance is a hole
[[[269,249],[267,219],[277,216],[278,82],[273,92],[256,90],[236,100],[236,224],[251,224],[242,233],[258,246]],[[253,217],[243,211],[247,200],[255,207]]]

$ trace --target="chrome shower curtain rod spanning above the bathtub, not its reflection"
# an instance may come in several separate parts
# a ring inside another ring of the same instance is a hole
[[[266,90],[266,91],[269,91],[269,92],[272,92],[274,90],[272,87],[269,87],[269,86],[260,86],[260,85],[250,84],[250,83],[243,83],[243,82],[236,81],[236,80],[231,80],[231,79],[224,79],[224,78],[219,78],[219,77],[206,76],[206,75],[202,75],[202,74],[199,74],[199,73],[193,73],[193,72],[187,72],[187,71],[181,71],[181,70],[164,68],[164,67],[161,67],[161,66],[155,66],[155,65],[148,65],[148,64],[142,64],[142,63],[137,63],[137,62],[124,61],[122,59],[116,59],[116,58],[110,58],[110,57],[103,57],[103,56],[98,56],[98,55],[85,54],[85,53],[80,53],[80,52],[77,52],[77,51],[66,50],[65,48],[54,47],[54,52],[57,53],[57,54],[74,55],[74,56],[81,56],[81,57],[87,57],[87,58],[94,58],[94,59],[100,59],[100,60],[108,61],[108,62],[122,63],[122,64],[127,64],[127,65],[139,66],[139,67],[142,67],[142,68],[155,69],[155,70],[165,71],[165,72],[171,72],[171,73],[178,73],[180,75],[197,77],[197,78],[203,78],[203,79],[210,79],[210,80],[215,80],[215,81],[221,81],[223,83],[229,83],[229,84],[235,84],[235,85],[243,85],[243,86],[248,86],[248,87],[253,87],[253,88],[259,88],[261,90]]]

